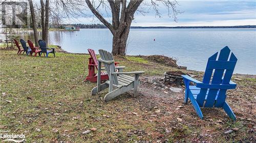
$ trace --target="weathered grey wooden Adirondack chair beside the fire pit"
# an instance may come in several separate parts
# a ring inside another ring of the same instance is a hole
[[[105,50],[99,50],[100,57],[98,59],[98,77],[97,77],[97,87],[93,88],[92,95],[99,93],[100,91],[109,88],[109,93],[105,95],[104,101],[109,101],[131,89],[134,89],[134,96],[137,95],[138,85],[140,84],[139,76],[145,72],[135,71],[135,72],[116,72],[113,55]],[[109,75],[109,80],[100,84],[100,72],[101,72],[101,63],[104,64],[105,70]],[[123,67],[121,67],[122,69]],[[135,76],[129,76],[134,74]],[[117,89],[113,90],[113,87]]]

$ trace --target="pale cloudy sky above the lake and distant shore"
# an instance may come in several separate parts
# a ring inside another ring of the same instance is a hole
[[[149,1],[149,0],[144,0]],[[132,26],[230,26],[256,25],[256,1],[179,1],[177,8],[182,12],[178,21],[168,17],[167,9],[160,5],[161,18],[150,10],[143,16],[135,13]],[[148,8],[147,8],[148,9]],[[103,17],[111,21],[104,11]],[[89,12],[89,14],[92,14]],[[92,24],[99,20],[79,17],[67,23]]]

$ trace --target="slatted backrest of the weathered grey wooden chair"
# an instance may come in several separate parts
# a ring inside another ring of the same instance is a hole
[[[113,55],[111,52],[108,52],[106,50],[99,50],[100,58],[105,61],[112,61],[114,60]],[[100,65],[99,65],[100,66]],[[104,67],[106,72],[108,73],[110,78],[113,78],[114,84],[118,84],[117,75],[111,75],[111,73],[116,72],[115,63],[107,64],[104,63]],[[112,76],[112,77],[111,77]]]

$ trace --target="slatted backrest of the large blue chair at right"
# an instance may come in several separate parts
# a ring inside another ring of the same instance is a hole
[[[229,84],[231,76],[233,74],[234,67],[237,63],[237,58],[231,53],[229,58],[230,49],[226,46],[221,49],[219,58],[217,60],[218,52],[210,56],[207,62],[206,70],[203,77],[203,83],[205,84]],[[229,60],[228,60],[229,58]],[[212,76],[212,72],[213,76]],[[225,73],[224,73],[225,72]],[[224,76],[223,76],[224,73]],[[212,79],[211,79],[212,76]],[[209,91],[208,91],[209,90]],[[205,101],[205,96],[208,91],[208,95]],[[226,100],[226,89],[203,89],[197,96],[197,102],[200,107],[222,107]],[[217,99],[216,96],[218,95]]]

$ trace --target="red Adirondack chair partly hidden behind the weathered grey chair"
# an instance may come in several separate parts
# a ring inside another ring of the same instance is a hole
[[[97,77],[98,74],[95,73],[95,68],[96,70],[98,70],[98,60],[96,57],[96,53],[93,49],[88,49],[89,54],[91,55],[91,57],[89,58],[89,64],[88,64],[88,76],[86,77],[86,79],[84,79],[84,81],[91,81],[91,82],[97,82]],[[115,66],[117,66],[117,62],[115,62]],[[101,72],[100,74],[100,79],[101,80],[108,80],[109,76],[108,73],[106,73],[106,71]]]

